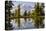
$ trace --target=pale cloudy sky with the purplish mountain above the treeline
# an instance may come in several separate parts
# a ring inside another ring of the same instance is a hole
[[[21,5],[20,6],[21,14],[23,14],[25,10],[27,10],[27,11],[32,10],[34,8],[34,6],[35,6],[34,2],[13,1],[12,3],[14,4],[12,12],[15,10],[16,6],[18,6],[18,4],[20,4]]]

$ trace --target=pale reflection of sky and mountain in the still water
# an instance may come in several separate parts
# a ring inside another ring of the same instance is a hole
[[[25,22],[24,19],[21,18],[20,22],[21,22],[20,29],[32,29],[32,28],[34,28],[32,21],[28,21],[28,19],[27,19],[27,22]],[[15,23],[15,20],[14,21],[12,20],[11,23],[12,23],[14,29],[19,29],[19,27],[17,26],[17,23]]]

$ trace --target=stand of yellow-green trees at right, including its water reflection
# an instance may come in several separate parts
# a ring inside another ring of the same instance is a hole
[[[44,3],[41,3],[44,4]],[[32,19],[34,19],[35,22],[35,27],[36,28],[43,28],[44,24],[44,5],[41,5],[39,3],[37,3],[37,5],[35,6],[35,10],[32,13]]]

